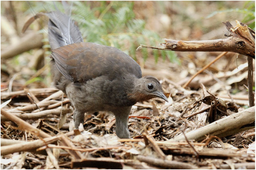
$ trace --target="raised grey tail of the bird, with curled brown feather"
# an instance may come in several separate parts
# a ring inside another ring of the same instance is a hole
[[[25,32],[33,21],[43,15],[49,18],[48,38],[52,50],[68,44],[83,42],[82,34],[75,21],[60,11],[36,14],[25,23],[22,32]]]

